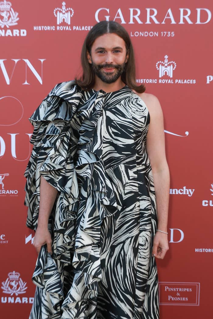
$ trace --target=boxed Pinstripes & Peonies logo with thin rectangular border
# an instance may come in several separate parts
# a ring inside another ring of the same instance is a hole
[[[160,305],[199,306],[199,282],[159,282]]]

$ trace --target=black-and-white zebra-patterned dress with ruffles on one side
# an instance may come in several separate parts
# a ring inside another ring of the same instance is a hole
[[[58,190],[48,225],[53,254],[42,246],[30,319],[158,319],[145,103],[127,85],[106,93],[66,81],[29,120],[29,228],[37,228],[41,175]]]

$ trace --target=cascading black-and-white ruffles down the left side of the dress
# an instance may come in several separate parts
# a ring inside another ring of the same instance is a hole
[[[86,94],[73,81],[59,83],[29,118],[34,146],[25,171],[27,227],[37,228],[41,175],[58,190],[48,226],[53,256],[42,246],[32,278],[42,289],[42,319],[87,318],[97,311],[101,224],[121,208],[102,160],[105,92]],[[69,265],[74,276],[65,294]]]

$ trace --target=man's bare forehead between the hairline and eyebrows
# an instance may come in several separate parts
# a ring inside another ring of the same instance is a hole
[[[93,42],[92,49],[95,50],[98,47],[106,49],[115,47],[125,48],[125,41],[115,33],[105,33],[97,37]]]

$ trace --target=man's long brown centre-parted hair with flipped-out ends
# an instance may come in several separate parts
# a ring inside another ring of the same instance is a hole
[[[115,33],[121,37],[126,44],[126,51],[129,54],[128,61],[126,62],[125,69],[121,75],[121,80],[128,85],[130,89],[138,93],[143,93],[146,90],[144,84],[137,85],[135,79],[135,59],[133,46],[129,34],[123,26],[115,21],[101,21],[95,24],[93,28],[87,33],[86,39],[83,43],[81,50],[81,65],[83,73],[80,78],[75,78],[77,83],[83,90],[88,91],[95,85],[95,73],[92,65],[88,62],[87,51],[91,54],[91,47],[96,38],[105,33]]]

